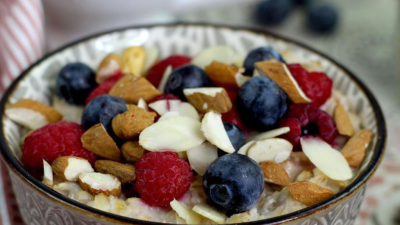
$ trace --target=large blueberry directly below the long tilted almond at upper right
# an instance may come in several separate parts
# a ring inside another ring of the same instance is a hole
[[[263,130],[285,113],[286,94],[269,78],[255,76],[240,87],[236,105],[246,126]]]

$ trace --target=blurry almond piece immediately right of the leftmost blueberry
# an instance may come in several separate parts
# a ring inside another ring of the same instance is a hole
[[[122,57],[116,53],[109,53],[97,67],[96,82],[102,83],[111,76],[120,72],[123,67]]]

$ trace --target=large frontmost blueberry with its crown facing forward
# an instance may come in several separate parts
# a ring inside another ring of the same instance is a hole
[[[261,167],[243,154],[230,153],[215,159],[203,175],[208,202],[226,215],[251,209],[264,189]]]

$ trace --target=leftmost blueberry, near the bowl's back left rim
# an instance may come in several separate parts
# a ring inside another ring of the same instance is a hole
[[[81,62],[65,65],[58,72],[55,91],[72,104],[84,105],[90,91],[97,86],[93,70]]]

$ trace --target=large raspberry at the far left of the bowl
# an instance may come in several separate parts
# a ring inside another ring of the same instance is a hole
[[[80,142],[84,130],[74,122],[49,123],[26,136],[22,145],[22,162],[31,169],[43,167],[42,159],[52,163],[59,156],[73,155],[93,163],[97,156]]]

